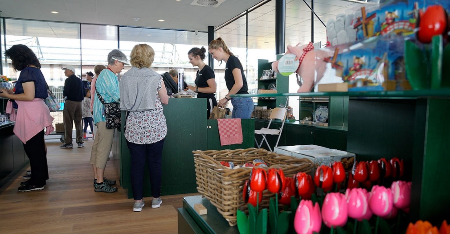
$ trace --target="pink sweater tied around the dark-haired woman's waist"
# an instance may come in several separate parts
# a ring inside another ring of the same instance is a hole
[[[17,101],[17,115],[14,112],[13,103],[8,101],[6,113],[10,114],[9,119],[16,121],[14,134],[25,144],[29,139],[40,131],[47,130],[45,135],[49,135],[54,130],[52,125],[53,117],[43,99],[35,98],[31,101]]]

